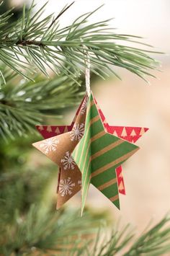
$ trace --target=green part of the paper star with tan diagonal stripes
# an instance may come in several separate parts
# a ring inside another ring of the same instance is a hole
[[[86,110],[84,136],[72,154],[82,173],[81,214],[90,183],[120,208],[115,168],[138,149],[138,146],[104,130],[91,94]]]

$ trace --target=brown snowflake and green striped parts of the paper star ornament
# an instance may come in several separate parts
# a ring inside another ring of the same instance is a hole
[[[61,169],[57,208],[81,189],[82,213],[90,183],[120,208],[115,169],[132,156],[138,146],[107,132],[92,94],[84,97],[81,108],[71,131],[33,144]],[[49,139],[47,151],[44,145]]]

